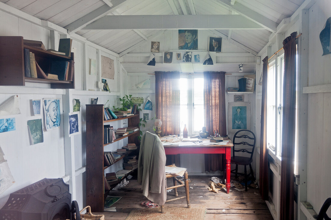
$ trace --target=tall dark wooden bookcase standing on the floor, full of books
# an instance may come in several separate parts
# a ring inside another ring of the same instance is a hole
[[[139,124],[139,114],[119,119],[104,120],[103,104],[86,105],[86,204],[90,205],[95,212],[104,211],[106,199],[104,174],[105,169],[109,166],[104,165],[103,153],[104,146],[112,144],[104,144],[104,124],[125,119],[128,121],[128,126],[138,126]],[[125,136],[119,136],[113,143],[123,138],[128,138],[128,143],[135,143],[139,146],[139,134],[138,130]],[[133,152],[135,151],[132,150],[122,155],[115,163]]]

